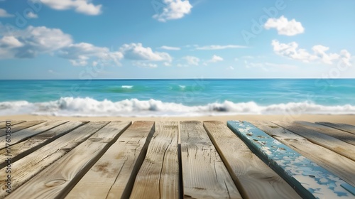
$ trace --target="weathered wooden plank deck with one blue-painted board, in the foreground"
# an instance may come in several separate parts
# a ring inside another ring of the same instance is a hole
[[[3,121],[0,136],[0,198],[355,198],[348,124]]]

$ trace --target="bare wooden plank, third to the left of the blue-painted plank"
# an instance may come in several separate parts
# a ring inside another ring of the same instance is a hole
[[[156,122],[130,198],[179,198],[178,122]]]

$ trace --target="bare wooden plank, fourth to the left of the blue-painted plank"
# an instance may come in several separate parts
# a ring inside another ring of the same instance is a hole
[[[134,122],[65,198],[129,198],[154,122]]]

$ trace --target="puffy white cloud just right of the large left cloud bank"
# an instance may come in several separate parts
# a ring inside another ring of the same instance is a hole
[[[168,61],[172,58],[168,53],[153,52],[149,47],[145,48],[141,43],[130,43],[121,46],[120,51],[124,58],[129,60]]]

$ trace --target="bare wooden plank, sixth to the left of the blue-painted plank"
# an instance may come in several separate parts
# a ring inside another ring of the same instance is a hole
[[[19,186],[23,185],[26,181],[30,180],[37,173],[42,171],[51,163],[57,161],[60,157],[64,156],[85,141],[89,136],[102,129],[109,122],[89,122],[82,127],[79,127],[69,134],[65,134],[56,139],[52,143],[43,146],[42,148],[33,151],[18,161],[11,164],[12,185],[11,190],[16,190]],[[6,179],[6,168],[0,170],[0,179]],[[0,181],[0,190],[6,190],[5,182]],[[7,195],[6,192],[0,192],[0,198]]]

